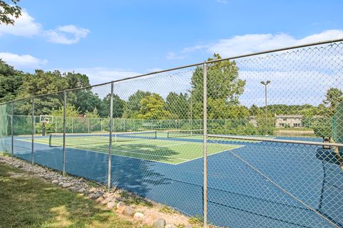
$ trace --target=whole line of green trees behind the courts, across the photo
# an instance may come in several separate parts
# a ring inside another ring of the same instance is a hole
[[[221,58],[214,54],[214,60]],[[249,116],[269,117],[276,115],[299,114],[305,117],[315,115],[330,117],[334,115],[337,105],[342,102],[343,93],[338,88],[327,90],[324,100],[314,105],[252,105],[246,107],[239,103],[239,96],[244,93],[245,81],[239,79],[239,68],[234,61],[219,61],[209,64],[207,68],[207,103],[209,119],[239,119]],[[114,94],[114,118],[136,118],[146,120],[202,119],[203,115],[203,70],[195,69],[192,75],[192,89],[188,93],[170,92],[166,98],[157,93],[137,90],[123,100]],[[0,60],[0,102],[16,98],[29,98],[31,95],[56,93],[70,88],[91,86],[88,76],[81,73],[36,70],[24,73]],[[68,108],[73,115],[85,117],[109,116],[110,94],[100,98],[91,88],[67,92]],[[16,115],[31,115],[29,100],[15,103]],[[60,115],[63,104],[63,93],[45,95],[35,98],[36,115]],[[60,112],[58,111],[60,110]],[[59,113],[59,114],[58,114]]]

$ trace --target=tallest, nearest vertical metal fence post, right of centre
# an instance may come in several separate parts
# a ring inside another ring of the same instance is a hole
[[[204,63],[204,228],[207,228],[207,65]]]

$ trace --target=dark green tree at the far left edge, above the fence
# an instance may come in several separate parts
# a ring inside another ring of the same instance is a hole
[[[23,83],[24,74],[0,59],[0,102],[14,100]]]

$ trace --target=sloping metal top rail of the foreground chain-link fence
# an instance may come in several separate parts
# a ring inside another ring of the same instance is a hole
[[[71,89],[67,89],[67,90],[64,90],[64,91],[69,92],[69,91],[73,91],[73,90],[89,89],[89,88],[93,88],[93,87],[96,87],[96,86],[104,86],[104,85],[108,85],[110,83],[117,83],[119,81],[127,81],[127,80],[131,80],[131,79],[134,79],[134,78],[142,78],[142,77],[145,77],[145,76],[151,76],[151,75],[158,74],[158,73],[166,73],[166,72],[169,72],[169,71],[181,70],[183,68],[189,68],[189,67],[194,67],[194,66],[201,66],[204,63],[207,63],[207,64],[208,63],[217,63],[217,62],[220,62],[220,61],[227,61],[227,60],[232,60],[232,59],[237,59],[237,58],[244,58],[244,57],[249,57],[249,56],[257,56],[257,55],[273,53],[273,52],[277,52],[277,51],[287,51],[287,50],[291,50],[291,49],[295,49],[295,48],[305,48],[305,47],[308,47],[308,46],[317,46],[317,45],[322,45],[322,44],[327,44],[327,43],[336,43],[336,42],[342,42],[342,41],[343,41],[343,38],[339,38],[339,39],[334,39],[334,40],[329,40],[329,41],[321,41],[321,42],[316,42],[316,43],[306,43],[306,44],[298,45],[298,46],[289,46],[289,47],[286,47],[286,48],[277,48],[277,49],[272,49],[272,50],[268,50],[268,51],[260,51],[260,52],[249,53],[249,54],[240,55],[240,56],[232,56],[232,57],[229,57],[229,58],[215,59],[215,60],[212,60],[212,61],[204,61],[202,63],[194,63],[194,64],[189,64],[189,65],[179,66],[179,67],[176,67],[176,68],[169,68],[169,69],[162,70],[162,71],[154,71],[154,72],[151,72],[151,73],[144,73],[144,74],[141,74],[141,75],[137,75],[137,76],[133,76],[133,77],[129,77],[129,78],[122,78],[122,79],[119,79],[119,80],[116,80],[116,81],[109,81],[109,82],[106,82],[106,83],[100,83],[100,84],[96,84],[96,85],[92,85],[92,86],[84,86],[84,87],[79,87],[79,88],[71,88]],[[54,94],[57,94],[57,93],[62,93],[64,91],[58,91],[58,92],[54,92],[54,93],[46,93],[46,94],[41,94],[41,95],[34,95],[34,96],[31,96],[31,97],[27,97],[27,98],[19,98],[19,99],[15,99],[15,100],[6,101],[4,103],[0,103],[0,105],[6,104],[6,103],[10,103],[11,101],[19,101],[19,100],[25,100],[25,99],[30,99],[30,98],[39,98],[39,97],[44,96],[44,95],[54,95]]]

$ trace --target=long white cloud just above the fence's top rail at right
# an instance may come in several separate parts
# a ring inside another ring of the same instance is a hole
[[[217,42],[208,43],[202,46],[184,48],[180,53],[204,50],[208,53],[219,53],[222,57],[230,57],[337,38],[343,38],[343,30],[335,29],[322,31],[322,33],[313,34],[304,38],[295,38],[286,33],[247,34],[220,39]],[[177,56],[177,54],[174,53],[174,56]]]

